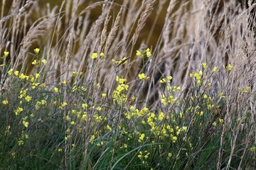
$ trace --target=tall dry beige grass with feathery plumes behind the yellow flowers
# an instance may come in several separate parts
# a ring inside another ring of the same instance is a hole
[[[76,71],[83,73],[77,80],[79,84],[90,84],[92,89],[101,84],[99,91],[112,94],[116,77],[124,77],[132,87],[128,96],[137,96],[136,106],[150,105],[154,110],[160,105],[164,89],[159,84],[161,78],[174,77],[171,85],[181,86],[182,93],[178,95],[187,98],[192,83],[189,73],[200,69],[202,62],[210,69],[232,64],[233,69],[219,74],[218,83],[211,87],[213,93],[225,91],[227,96],[221,115],[225,125],[216,168],[223,169],[222,142],[228,134],[232,140],[225,169],[230,169],[235,147],[238,147],[236,141],[244,127],[242,120],[248,112],[252,126],[247,127],[244,144],[248,147],[250,140],[255,144],[256,3],[231,0],[119,0],[92,4],[66,0],[58,6],[51,3],[0,2],[0,54],[10,52],[10,68],[24,74],[36,72],[37,68],[30,63],[36,58],[33,49],[39,47],[41,60],[48,61],[45,68],[48,72],[44,75],[47,84],[60,84]],[[137,50],[147,47],[151,49],[151,57],[136,56]],[[93,52],[98,55],[103,52],[105,57],[92,60]],[[112,62],[123,57],[128,58],[127,64]],[[151,79],[139,81],[141,73]],[[4,79],[4,69],[1,74],[4,89],[8,82]],[[208,79],[212,80],[210,76]],[[241,96],[239,88],[245,86],[251,88],[250,95]],[[99,93],[92,95],[97,98]],[[66,96],[64,101],[68,101]],[[236,125],[232,124],[234,117],[238,118]],[[244,161],[241,158],[236,168],[240,169]]]

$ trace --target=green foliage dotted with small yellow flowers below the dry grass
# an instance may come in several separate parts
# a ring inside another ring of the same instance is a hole
[[[90,84],[51,86],[41,77],[9,71],[0,105],[1,164],[8,169],[215,169],[229,157],[237,167],[240,157],[255,154],[245,147],[250,116],[238,112],[228,120],[230,94],[212,91],[219,80],[210,69],[191,74],[183,97],[180,87],[170,86],[172,77],[161,79],[166,89],[154,111],[137,108],[137,96],[128,100],[121,77],[112,94],[103,95]]]

